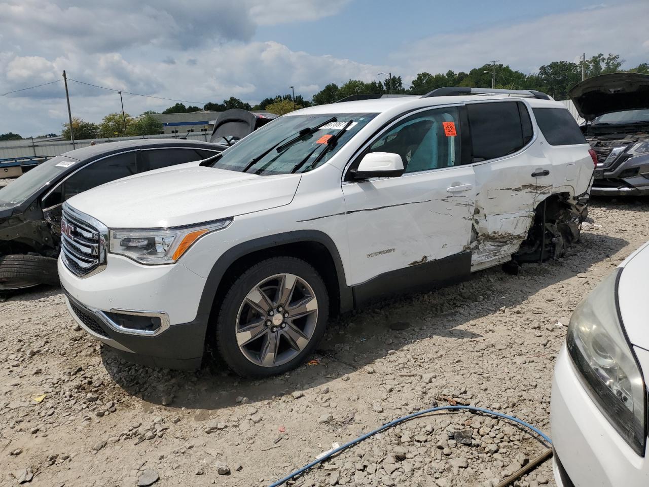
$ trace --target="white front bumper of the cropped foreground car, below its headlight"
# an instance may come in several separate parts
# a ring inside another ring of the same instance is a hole
[[[631,450],[593,403],[565,345],[554,369],[550,422],[559,487],[649,485],[649,461]]]

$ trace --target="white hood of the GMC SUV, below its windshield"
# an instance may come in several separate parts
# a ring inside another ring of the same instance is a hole
[[[299,174],[258,176],[185,167],[103,184],[68,200],[109,228],[193,225],[291,203]]]

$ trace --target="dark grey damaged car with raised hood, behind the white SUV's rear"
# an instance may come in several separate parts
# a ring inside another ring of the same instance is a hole
[[[569,95],[597,153],[591,195],[649,195],[649,75],[599,75]]]

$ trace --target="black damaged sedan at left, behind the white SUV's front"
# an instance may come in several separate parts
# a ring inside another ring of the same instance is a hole
[[[106,182],[202,160],[227,145],[127,140],[91,145],[43,162],[0,190],[0,291],[58,284],[61,206]]]

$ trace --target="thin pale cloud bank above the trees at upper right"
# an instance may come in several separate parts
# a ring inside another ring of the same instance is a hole
[[[493,59],[533,72],[548,62],[573,60],[584,52],[587,57],[619,53],[629,65],[637,66],[646,60],[647,19],[646,0],[597,5],[590,10],[552,14],[481,31],[430,36],[391,53],[389,59],[402,73],[407,72],[406,79],[421,71],[467,71]]]

